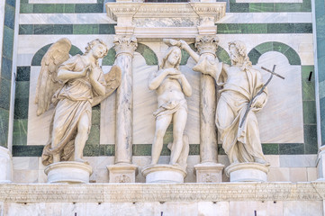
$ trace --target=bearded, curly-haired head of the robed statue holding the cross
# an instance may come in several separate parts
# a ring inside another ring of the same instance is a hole
[[[246,45],[243,41],[234,40],[228,43],[230,50],[231,65],[251,65],[249,61]]]

